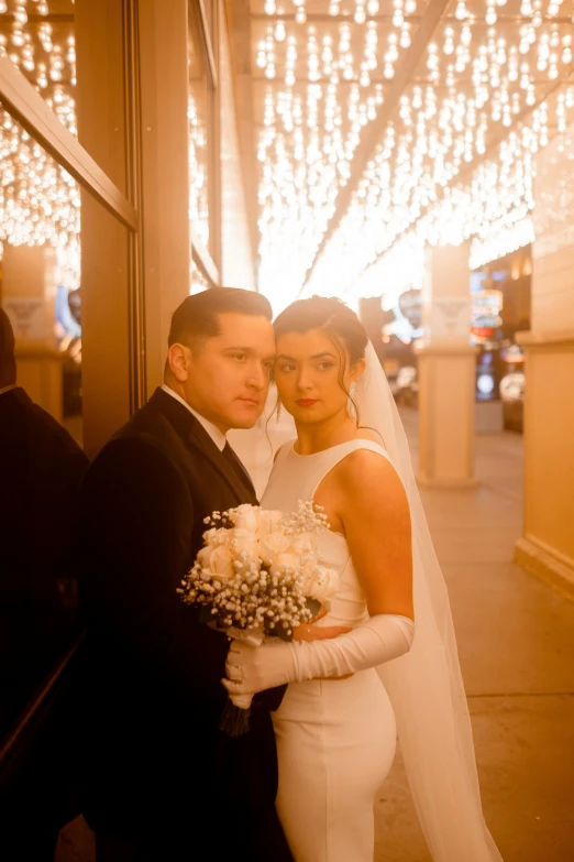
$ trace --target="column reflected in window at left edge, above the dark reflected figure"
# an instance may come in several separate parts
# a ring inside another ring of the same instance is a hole
[[[14,330],[18,383],[62,422],[64,356],[56,347],[56,272],[51,247],[4,243],[2,306]]]

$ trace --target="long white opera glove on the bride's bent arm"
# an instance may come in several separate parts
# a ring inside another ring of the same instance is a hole
[[[230,694],[254,694],[285,683],[356,674],[408,653],[415,623],[379,613],[352,632],[324,641],[267,641],[253,648],[233,641],[222,680]]]

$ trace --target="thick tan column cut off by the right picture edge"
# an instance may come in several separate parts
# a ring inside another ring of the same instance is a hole
[[[516,560],[574,598],[574,129],[539,155],[526,349],[525,525]]]

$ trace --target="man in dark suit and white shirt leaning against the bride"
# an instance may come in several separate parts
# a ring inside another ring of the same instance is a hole
[[[176,309],[164,385],[90,467],[79,504],[84,812],[98,862],[291,862],[275,814],[277,761],[264,692],[239,739],[218,723],[229,642],[176,593],[203,519],[255,504],[225,440],[251,428],[275,354],[260,294],[216,288]]]

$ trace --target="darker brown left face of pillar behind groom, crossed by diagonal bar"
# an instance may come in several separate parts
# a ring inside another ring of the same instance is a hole
[[[122,4],[76,0],[78,139],[126,194]],[[129,231],[81,193],[84,448],[92,458],[130,416]]]

